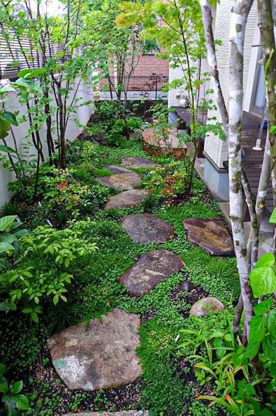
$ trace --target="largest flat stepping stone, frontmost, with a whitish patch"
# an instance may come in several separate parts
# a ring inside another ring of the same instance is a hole
[[[69,390],[113,389],[140,377],[140,324],[137,315],[116,308],[50,337],[53,366]]]

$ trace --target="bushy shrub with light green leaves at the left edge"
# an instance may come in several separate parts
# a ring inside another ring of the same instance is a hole
[[[0,281],[8,289],[6,302],[13,310],[23,301],[23,313],[38,322],[43,298],[50,297],[54,304],[67,301],[66,285],[73,278],[70,266],[76,257],[96,250],[95,243],[85,241],[81,234],[75,223],[65,230],[38,227],[21,239],[16,268],[4,271]]]

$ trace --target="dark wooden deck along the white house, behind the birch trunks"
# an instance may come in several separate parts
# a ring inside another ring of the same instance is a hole
[[[177,114],[185,120],[187,123],[190,123],[190,109],[183,109],[181,107],[174,107],[174,110]],[[206,122],[206,115],[201,114],[198,116],[198,119],[203,123]],[[260,118],[253,116],[252,114],[243,113],[243,136],[242,136],[242,147],[244,150],[243,163],[245,171],[250,183],[251,190],[253,195],[257,196],[262,159],[264,153],[264,145],[267,130],[263,129],[262,138],[261,138],[261,148],[262,150],[253,150],[255,146],[256,139],[259,133]],[[227,166],[227,163],[226,163]],[[273,211],[273,195],[272,195],[272,186],[271,179],[269,182],[267,194],[266,194],[266,210],[269,213]]]

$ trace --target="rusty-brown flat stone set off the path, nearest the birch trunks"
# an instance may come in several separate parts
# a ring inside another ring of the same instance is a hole
[[[234,256],[233,240],[217,218],[189,218],[183,221],[189,240],[211,255]]]

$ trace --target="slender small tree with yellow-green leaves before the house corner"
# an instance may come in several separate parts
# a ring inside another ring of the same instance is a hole
[[[162,51],[157,56],[168,59],[171,68],[180,67],[183,72],[181,79],[174,80],[169,87],[183,88],[189,97],[190,129],[193,150],[188,167],[188,190],[192,187],[193,169],[197,155],[198,140],[205,135],[205,127],[199,123],[201,108],[199,104],[200,88],[208,78],[208,74],[198,71],[198,62],[205,56],[205,38],[201,21],[200,7],[197,2],[189,0],[173,0],[170,2],[129,2],[121,4],[122,13],[116,22],[120,27],[142,25],[142,40],[156,40]],[[160,24],[160,21],[162,24]],[[207,91],[211,93],[212,91]],[[213,108],[211,97],[202,100],[205,108]],[[218,123],[208,126],[223,136]]]

